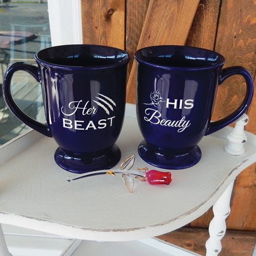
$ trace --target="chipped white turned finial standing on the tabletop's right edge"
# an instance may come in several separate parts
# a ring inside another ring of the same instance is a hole
[[[248,123],[248,116],[243,114],[237,121],[234,129],[227,136],[228,144],[225,151],[234,156],[240,156],[244,153],[244,143],[247,141],[244,132],[244,126]]]

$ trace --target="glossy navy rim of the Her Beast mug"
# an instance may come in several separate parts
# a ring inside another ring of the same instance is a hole
[[[60,64],[56,64],[56,63],[51,63],[49,61],[46,61],[40,57],[38,57],[38,54],[42,54],[45,51],[49,50],[49,49],[57,49],[57,48],[64,48],[64,47],[78,47],[78,46],[87,46],[87,47],[101,47],[101,48],[105,48],[105,49],[113,49],[113,50],[118,50],[122,53],[124,53],[126,56],[123,60],[119,61],[119,62],[113,62],[113,63],[109,63],[107,65],[99,65],[99,66],[70,66],[70,65],[60,65]],[[65,70],[102,70],[102,69],[110,69],[110,68],[117,68],[119,66],[123,66],[126,63],[128,63],[131,59],[130,54],[127,53],[126,51],[116,48],[116,47],[111,47],[111,46],[103,46],[103,45],[89,45],[89,44],[70,44],[70,45],[60,45],[60,46],[53,46],[53,47],[48,47],[45,49],[42,49],[40,51],[38,51],[37,53],[35,53],[34,58],[36,60],[36,62],[40,63],[40,64],[45,64],[47,67],[51,67],[51,68],[61,68],[61,69],[65,69]]]

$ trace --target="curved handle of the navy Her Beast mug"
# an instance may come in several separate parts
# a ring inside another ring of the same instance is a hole
[[[25,124],[30,126],[32,129],[48,137],[52,137],[52,133],[48,124],[42,124],[40,122],[37,122],[33,118],[29,117],[15,103],[11,94],[11,79],[14,72],[18,70],[23,70],[28,72],[30,75],[32,75],[36,79],[38,83],[40,83],[37,67],[24,62],[13,63],[5,73],[5,78],[3,83],[3,95],[8,108],[20,121],[24,122]]]

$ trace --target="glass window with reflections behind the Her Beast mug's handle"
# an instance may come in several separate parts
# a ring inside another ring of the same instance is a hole
[[[34,54],[51,46],[46,0],[0,0],[0,85],[12,63],[35,63]],[[26,72],[16,72],[12,95],[18,106],[30,117],[45,122],[41,87]],[[30,127],[19,121],[7,108],[0,92],[0,144],[27,132]]]

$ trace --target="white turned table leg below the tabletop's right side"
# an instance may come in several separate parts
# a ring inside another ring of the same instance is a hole
[[[226,232],[226,218],[230,214],[230,198],[234,182],[226,188],[222,196],[214,204],[214,218],[209,224],[210,237],[205,243],[206,256],[216,256],[221,251],[221,239]]]

